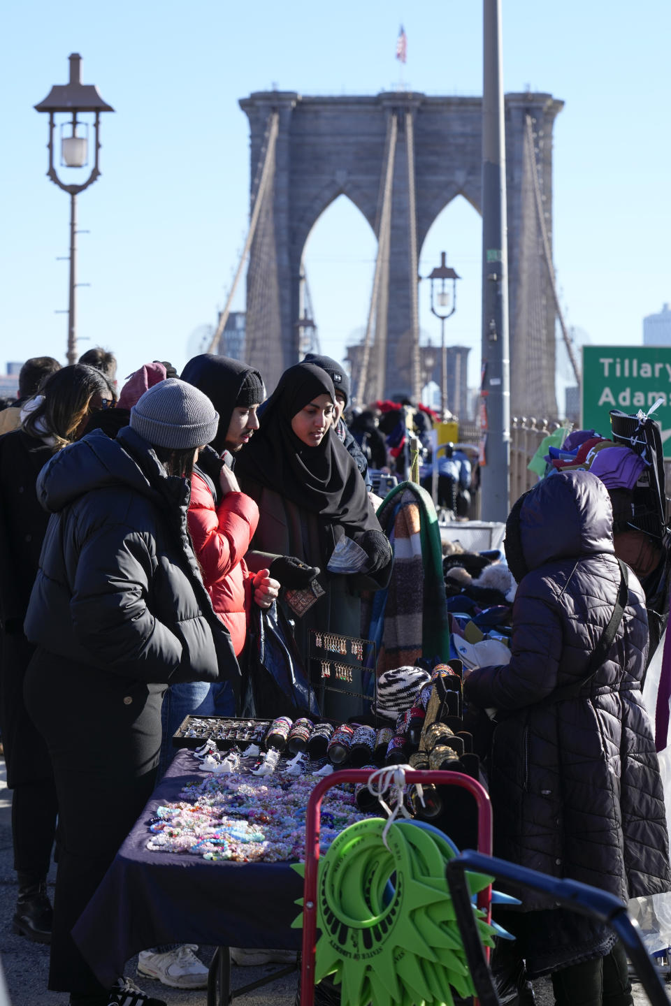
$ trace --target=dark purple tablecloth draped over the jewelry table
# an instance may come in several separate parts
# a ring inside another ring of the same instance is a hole
[[[147,849],[156,808],[205,775],[188,751],[178,751],[72,930],[103,985],[123,975],[139,951],[160,944],[300,949],[302,931],[290,926],[303,882],[289,863],[210,862]]]

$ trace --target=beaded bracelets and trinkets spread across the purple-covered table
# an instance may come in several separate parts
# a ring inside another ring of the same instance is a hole
[[[455,667],[387,671],[379,680],[376,721],[315,723],[306,717],[273,722],[189,717],[178,741],[193,744],[194,769],[206,772],[187,784],[180,800],[157,809],[147,848],[210,861],[302,860],[308,799],[320,776],[344,766],[377,769],[409,764],[479,777],[471,735],[462,727],[462,681]],[[293,757],[292,757],[293,756]],[[404,802],[420,817],[435,817],[436,790],[408,787]],[[380,809],[365,785],[329,790],[322,801],[321,845]]]

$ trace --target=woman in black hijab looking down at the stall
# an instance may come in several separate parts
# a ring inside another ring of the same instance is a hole
[[[379,590],[391,572],[391,546],[361,474],[333,429],[334,407],[333,381],[325,370],[311,363],[290,367],[237,463],[242,489],[259,504],[254,547],[296,555],[322,570],[324,595],[297,622],[296,638],[305,656],[310,629],[358,636],[361,605],[356,592]],[[349,571],[328,569],[336,548],[341,569]],[[288,615],[296,617],[292,611]],[[327,695],[330,715],[359,711],[346,709],[344,696]]]

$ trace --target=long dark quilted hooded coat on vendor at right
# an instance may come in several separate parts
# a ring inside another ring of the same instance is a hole
[[[469,701],[502,719],[490,777],[495,853],[624,900],[666,891],[664,798],[641,701],[648,627],[633,572],[609,659],[578,697],[552,702],[555,689],[589,673],[617,599],[608,492],[589,472],[553,475],[516,519],[506,551],[516,539],[521,554],[508,561],[529,571],[515,598],[512,658],[473,671],[465,685]],[[546,906],[525,897],[526,909]]]

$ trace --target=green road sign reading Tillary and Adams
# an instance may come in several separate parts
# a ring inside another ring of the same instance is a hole
[[[636,414],[662,402],[653,417],[671,457],[671,346],[583,346],[582,429],[611,436],[612,408]]]

